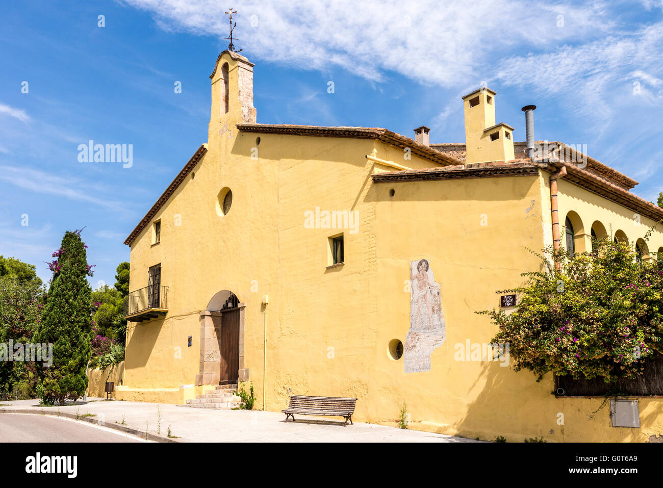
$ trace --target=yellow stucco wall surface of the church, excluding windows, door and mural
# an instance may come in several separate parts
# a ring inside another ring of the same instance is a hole
[[[495,328],[474,312],[498,306],[496,290],[538,269],[528,248],[552,243],[546,172],[375,184],[370,175],[381,168],[366,154],[410,168],[435,164],[416,155],[406,160],[402,150],[370,139],[239,133],[233,60],[225,61],[231,110],[215,115],[215,93],[208,153],[154,217],[161,242],[152,245],[148,226],[131,246],[131,290],[147,286],[149,267],[161,263],[168,314],[130,324],[118,398],[182,403],[210,388],[193,386],[200,311],[217,292],[231,290],[246,304],[243,353],[256,408],[265,385],[261,298],[269,295],[267,410],[283,408],[290,394],[357,396],[356,420],[395,425],[406,402],[410,428],[487,440],[642,441],[663,433],[661,400],[640,400],[642,428],[611,428],[609,408],[599,410],[602,398],[556,398],[550,376],[536,383],[526,371],[454,357],[455,345],[467,339],[490,341]],[[233,204],[219,216],[215,201],[225,187]],[[585,223],[613,223],[636,237],[633,212],[564,180],[559,188],[562,219],[574,210]],[[316,207],[357,211],[357,232],[306,228],[305,212]],[[642,223],[648,225],[644,217]],[[327,269],[328,237],[340,232],[345,264]],[[663,236],[656,233],[652,243],[650,249],[663,245]],[[404,373],[388,344],[405,342],[410,261],[422,258],[441,284],[447,335],[431,371]]]

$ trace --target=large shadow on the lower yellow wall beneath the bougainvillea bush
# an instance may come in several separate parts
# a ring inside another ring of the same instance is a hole
[[[453,425],[459,435],[489,441],[503,436],[507,442],[530,438],[546,442],[647,442],[652,434],[663,434],[661,398],[638,399],[640,428],[615,428],[611,397],[556,397],[552,395],[552,374],[536,383],[536,375],[524,369],[516,373],[512,364],[501,367],[493,361],[483,365],[466,392],[475,400],[467,406],[463,419]],[[478,394],[477,388],[482,388]]]

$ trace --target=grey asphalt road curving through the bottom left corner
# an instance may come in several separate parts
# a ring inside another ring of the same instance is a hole
[[[141,442],[131,436],[50,415],[0,415],[0,442]]]

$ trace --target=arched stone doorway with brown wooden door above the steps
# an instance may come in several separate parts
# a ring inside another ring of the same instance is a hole
[[[221,290],[200,313],[200,373],[196,385],[247,381],[244,369],[244,308],[237,295]]]

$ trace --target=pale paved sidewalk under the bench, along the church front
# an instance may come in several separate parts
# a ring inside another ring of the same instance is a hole
[[[47,410],[57,414],[58,407],[41,406],[38,400],[2,402],[0,410]],[[257,410],[210,410],[185,406],[88,398],[59,407],[60,412],[97,420],[113,428],[126,426],[141,432],[166,437],[168,426],[178,442],[477,442],[444,434],[432,434],[375,424],[342,423],[314,416],[300,416],[284,422],[280,412]],[[78,410],[78,412],[77,412]],[[158,410],[161,412],[160,422]],[[124,424],[122,424],[124,422]],[[342,421],[341,421],[342,422]],[[158,425],[160,423],[160,426]]]

